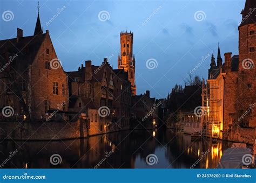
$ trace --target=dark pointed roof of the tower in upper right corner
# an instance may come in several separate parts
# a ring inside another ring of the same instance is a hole
[[[245,8],[242,9],[242,22],[240,26],[246,24],[255,24],[256,23],[256,1],[255,0],[246,0]]]

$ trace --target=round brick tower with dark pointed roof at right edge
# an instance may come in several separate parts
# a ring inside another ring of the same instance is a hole
[[[242,126],[256,126],[256,1],[246,0],[239,30],[239,69],[236,108]]]

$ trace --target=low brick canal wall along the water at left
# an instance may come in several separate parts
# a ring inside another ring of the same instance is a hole
[[[0,139],[5,140],[60,140],[86,138],[107,132],[126,129],[107,128],[102,131],[97,125],[90,125],[84,119],[77,122],[0,122]]]

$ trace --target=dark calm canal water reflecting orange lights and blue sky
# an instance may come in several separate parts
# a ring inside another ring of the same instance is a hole
[[[3,141],[0,162],[2,168],[215,168],[231,146],[193,141],[170,129],[133,130],[75,140]]]

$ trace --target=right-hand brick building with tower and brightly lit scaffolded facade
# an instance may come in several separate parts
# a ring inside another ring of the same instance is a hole
[[[256,126],[256,2],[246,0],[239,30],[239,55],[225,53],[225,64],[211,63],[208,91],[209,131],[228,140],[254,143]],[[213,126],[211,126],[211,123]],[[214,127],[215,126],[215,127]],[[223,130],[223,131],[221,131]]]

